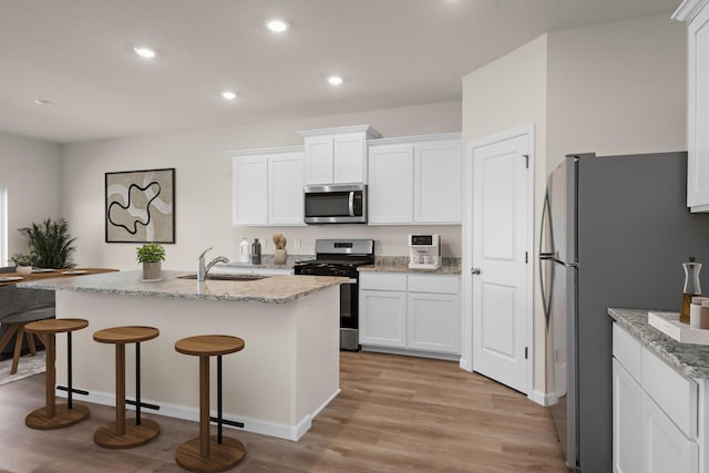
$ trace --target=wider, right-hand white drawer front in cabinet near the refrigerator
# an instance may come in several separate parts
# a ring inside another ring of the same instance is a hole
[[[697,383],[643,348],[643,388],[689,438],[697,438]]]

